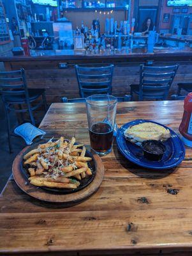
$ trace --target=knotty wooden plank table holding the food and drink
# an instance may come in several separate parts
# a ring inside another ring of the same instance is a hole
[[[122,102],[117,124],[145,118],[178,131],[183,102]],[[84,104],[52,104],[40,128],[89,145]],[[2,255],[191,255],[192,150],[174,170],[149,171],[114,147],[102,157],[100,189],[74,207],[53,209],[29,198],[9,180],[0,198]],[[179,189],[171,195],[168,189]],[[176,253],[177,252],[177,253]],[[184,253],[185,252],[185,253]]]

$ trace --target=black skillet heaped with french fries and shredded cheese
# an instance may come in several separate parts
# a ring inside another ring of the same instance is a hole
[[[73,193],[88,186],[96,174],[96,162],[75,138],[36,143],[26,150],[20,163],[30,184],[57,193]]]

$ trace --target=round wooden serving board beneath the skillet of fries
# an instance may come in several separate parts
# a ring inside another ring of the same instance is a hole
[[[104,166],[101,161],[101,158],[92,152],[92,155],[94,157],[94,160],[96,161],[96,175],[94,179],[92,180],[91,184],[89,184],[86,188],[77,191],[75,193],[63,195],[59,193],[52,193],[49,191],[46,191],[45,189],[41,189],[40,187],[33,186],[29,182],[27,182],[26,178],[22,173],[20,172],[20,161],[22,159],[22,155],[27,150],[28,147],[24,148],[15,158],[13,161],[13,178],[17,184],[17,186],[22,189],[27,195],[32,196],[33,198],[36,198],[38,200],[49,202],[49,203],[56,203],[56,204],[63,204],[64,207],[68,207],[70,205],[75,205],[89,196],[91,196],[94,192],[100,188],[101,182],[103,180],[104,176]]]

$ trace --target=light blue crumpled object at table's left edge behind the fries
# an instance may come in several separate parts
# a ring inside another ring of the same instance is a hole
[[[18,136],[22,137],[26,141],[27,145],[31,145],[34,138],[37,136],[41,136],[41,138],[43,138],[43,136],[46,134],[46,132],[36,128],[30,123],[19,125],[17,128],[15,128],[14,132]]]

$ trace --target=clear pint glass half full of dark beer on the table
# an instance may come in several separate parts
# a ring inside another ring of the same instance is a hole
[[[86,98],[86,107],[91,148],[105,156],[112,150],[117,98],[92,95]]]

